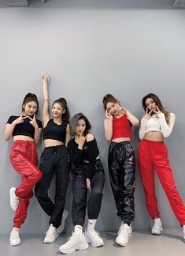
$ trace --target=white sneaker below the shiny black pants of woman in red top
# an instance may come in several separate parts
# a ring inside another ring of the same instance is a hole
[[[121,224],[119,231],[117,232],[116,242],[120,246],[126,247],[128,245],[128,239],[131,232],[131,226],[128,226],[128,224]]]

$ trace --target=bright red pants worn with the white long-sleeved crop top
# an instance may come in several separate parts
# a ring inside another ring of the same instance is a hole
[[[173,179],[172,169],[168,160],[168,149],[163,141],[148,141],[143,139],[139,143],[139,171],[142,185],[145,191],[146,208],[154,220],[160,216],[157,208],[157,198],[155,195],[154,169],[165,190],[168,201],[176,215],[179,224],[185,224],[185,206],[176,189]]]

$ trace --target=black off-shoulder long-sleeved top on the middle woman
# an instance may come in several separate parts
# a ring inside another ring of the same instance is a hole
[[[99,150],[97,146],[96,139],[92,141],[85,141],[83,144],[83,150],[78,149],[78,144],[75,141],[75,138],[68,141],[68,152],[70,160],[72,161],[72,167],[78,168],[81,164],[87,163],[87,173],[86,177],[91,179],[94,172],[94,164],[97,156],[99,155]]]

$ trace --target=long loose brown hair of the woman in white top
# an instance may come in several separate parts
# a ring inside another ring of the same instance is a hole
[[[165,107],[163,107],[163,105],[161,104],[161,100],[159,99],[159,97],[154,94],[154,93],[149,93],[147,94],[146,96],[144,96],[142,98],[142,107],[144,108],[144,111],[146,112],[146,100],[148,98],[151,98],[152,100],[154,100],[155,104],[157,105],[157,107],[159,108],[159,110],[165,114],[165,119],[166,119],[166,122],[169,124],[169,121],[170,121],[170,114],[168,111],[165,110]]]

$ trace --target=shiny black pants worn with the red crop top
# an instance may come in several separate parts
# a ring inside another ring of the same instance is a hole
[[[135,153],[130,141],[111,142],[108,164],[117,216],[130,224],[135,218]]]

